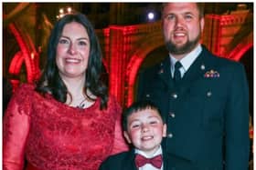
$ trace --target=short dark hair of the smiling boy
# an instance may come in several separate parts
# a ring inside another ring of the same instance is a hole
[[[145,101],[139,101],[139,102],[135,102],[132,105],[130,105],[129,107],[127,107],[124,112],[123,112],[123,121],[122,121],[122,125],[123,125],[123,131],[127,131],[127,124],[128,124],[128,117],[130,115],[133,115],[133,113],[139,112],[139,111],[143,111],[145,109],[152,109],[155,110],[160,117],[162,118],[163,122],[165,122],[160,109],[151,101],[145,100]]]

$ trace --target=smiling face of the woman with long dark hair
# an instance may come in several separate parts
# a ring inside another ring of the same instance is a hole
[[[83,25],[71,22],[63,27],[56,53],[56,63],[62,78],[85,75],[90,46],[90,39]]]

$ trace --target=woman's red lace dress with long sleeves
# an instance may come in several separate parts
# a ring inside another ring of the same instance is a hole
[[[34,85],[22,85],[11,99],[4,118],[5,170],[97,170],[108,155],[124,150],[121,107],[110,97],[86,109],[43,97]]]

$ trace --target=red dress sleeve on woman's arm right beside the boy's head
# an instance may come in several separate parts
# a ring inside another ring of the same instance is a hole
[[[117,114],[117,118],[115,121],[115,128],[114,128],[115,129],[114,130],[114,145],[113,145],[112,155],[129,150],[129,147],[125,143],[125,140],[123,138],[123,130],[122,130],[122,125],[121,125],[122,108],[118,103],[116,103],[115,112]]]

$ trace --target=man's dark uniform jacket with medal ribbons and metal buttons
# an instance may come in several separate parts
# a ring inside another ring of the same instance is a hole
[[[137,99],[153,101],[165,117],[169,165],[177,170],[222,170],[223,165],[225,170],[246,170],[249,90],[244,68],[202,47],[179,85],[171,78],[169,57],[143,72]]]

